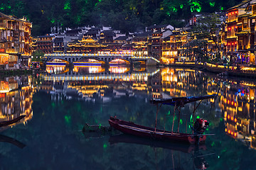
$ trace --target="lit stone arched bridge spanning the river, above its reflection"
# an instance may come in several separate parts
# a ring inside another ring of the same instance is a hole
[[[134,55],[100,55],[100,54],[46,54],[46,61],[59,59],[65,60],[67,62],[73,63],[80,61],[82,59],[93,59],[103,62],[104,64],[109,64],[113,60],[123,60],[129,64],[133,62],[144,62],[146,65],[156,65],[159,60],[154,57],[135,57]]]

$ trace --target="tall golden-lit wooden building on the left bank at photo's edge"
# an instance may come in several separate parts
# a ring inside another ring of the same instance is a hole
[[[0,65],[14,67],[18,61],[28,65],[31,59],[31,28],[32,24],[26,18],[0,13]]]

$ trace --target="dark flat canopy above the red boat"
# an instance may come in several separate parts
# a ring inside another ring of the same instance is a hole
[[[207,98],[213,98],[217,96],[216,94],[208,96],[191,96],[191,97],[177,97],[177,98],[163,98],[163,99],[152,99],[150,102],[153,104],[164,104],[171,106],[184,106],[186,103],[191,103],[194,101],[201,101]]]

